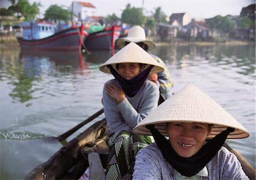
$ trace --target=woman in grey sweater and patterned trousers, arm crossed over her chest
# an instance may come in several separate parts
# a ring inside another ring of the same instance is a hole
[[[147,76],[163,67],[137,44],[130,43],[100,70],[115,77],[105,83],[103,90],[110,148],[106,179],[131,179],[135,155],[151,143],[146,136],[133,136],[133,128],[157,107],[159,99],[158,86]]]

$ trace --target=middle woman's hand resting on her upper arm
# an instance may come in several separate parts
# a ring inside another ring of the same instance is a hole
[[[119,89],[112,82],[105,85],[105,92],[112,97],[118,104],[121,103],[126,97],[123,90]]]

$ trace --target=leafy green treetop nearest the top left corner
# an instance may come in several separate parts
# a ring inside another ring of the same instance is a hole
[[[15,1],[12,1],[12,3]],[[28,0],[19,0],[16,4],[11,5],[8,10],[16,12],[18,16],[24,16],[24,19],[30,21],[35,18],[36,15],[39,14],[39,3],[33,3],[30,5]]]

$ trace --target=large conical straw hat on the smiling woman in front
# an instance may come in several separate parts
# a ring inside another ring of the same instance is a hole
[[[250,136],[245,127],[232,115],[192,84],[187,85],[156,107],[133,131],[141,135],[151,135],[145,125],[154,124],[162,135],[168,136],[166,128],[169,122],[213,124],[208,139],[212,139],[227,127],[235,128],[235,131],[229,134],[228,139],[241,139]]]

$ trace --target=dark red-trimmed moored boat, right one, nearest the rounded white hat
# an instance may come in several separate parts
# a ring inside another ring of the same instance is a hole
[[[86,37],[84,41],[85,47],[88,50],[112,50],[120,32],[121,27],[115,25],[102,31],[93,32]]]

